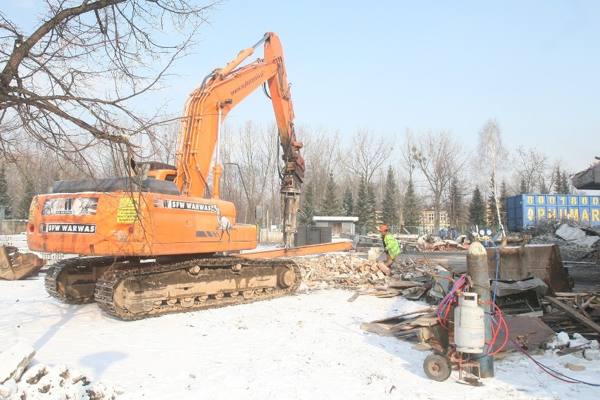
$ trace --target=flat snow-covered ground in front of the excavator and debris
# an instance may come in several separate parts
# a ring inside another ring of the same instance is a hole
[[[380,299],[318,290],[207,311],[125,322],[95,304],[51,298],[44,275],[0,280],[0,351],[28,342],[34,363],[65,364],[123,389],[117,399],[598,399],[599,387],[565,383],[523,354],[494,363],[482,387],[454,371],[427,379],[413,342],[380,337],[361,323],[425,308],[401,297]],[[577,380],[600,383],[600,361],[535,358]],[[567,363],[584,366],[575,372]],[[43,396],[39,397],[44,398]]]

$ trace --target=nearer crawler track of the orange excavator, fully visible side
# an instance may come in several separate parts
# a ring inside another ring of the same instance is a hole
[[[275,299],[296,292],[296,263],[285,259],[196,258],[115,265],[96,283],[99,307],[124,320]]]

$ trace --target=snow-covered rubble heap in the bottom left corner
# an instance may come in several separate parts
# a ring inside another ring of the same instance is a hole
[[[19,342],[0,352],[0,399],[113,400],[118,387],[90,380],[66,365],[35,363],[35,350]]]

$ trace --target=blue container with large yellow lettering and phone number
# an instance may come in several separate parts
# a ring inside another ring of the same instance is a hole
[[[518,232],[540,220],[600,226],[600,196],[518,194],[506,199],[506,229]]]

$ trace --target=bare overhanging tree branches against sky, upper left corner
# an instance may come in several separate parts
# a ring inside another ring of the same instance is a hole
[[[14,158],[23,140],[70,159],[96,144],[132,151],[130,137],[152,137],[172,117],[142,115],[132,99],[160,89],[168,69],[194,46],[223,3],[208,1],[45,0],[33,32],[0,12],[4,157]]]

